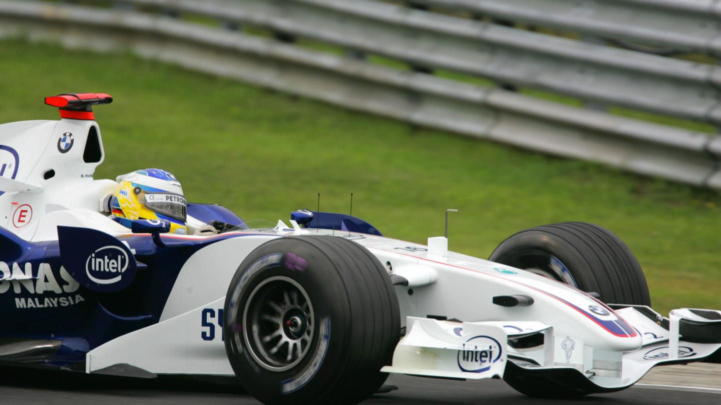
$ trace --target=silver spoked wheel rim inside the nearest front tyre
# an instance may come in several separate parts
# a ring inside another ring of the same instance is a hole
[[[303,360],[313,342],[313,305],[295,280],[270,277],[250,293],[243,325],[248,352],[262,368],[289,370]]]

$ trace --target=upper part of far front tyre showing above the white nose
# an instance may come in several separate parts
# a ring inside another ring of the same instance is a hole
[[[646,278],[631,250],[601,226],[554,223],[520,231],[489,260],[565,282],[604,303],[650,306]]]

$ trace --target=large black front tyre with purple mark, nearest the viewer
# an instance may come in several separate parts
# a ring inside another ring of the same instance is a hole
[[[265,404],[355,404],[386,379],[399,339],[395,290],[363,246],[291,236],[259,246],[231,280],[226,352]]]

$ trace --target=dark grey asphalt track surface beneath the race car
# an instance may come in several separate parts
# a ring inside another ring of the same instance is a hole
[[[572,401],[531,399],[501,380],[456,381],[394,377],[399,390],[376,394],[368,405],[398,404],[721,404],[721,390],[634,386],[617,393]],[[24,368],[0,368],[0,404],[260,404],[234,386],[188,378],[141,380]]]

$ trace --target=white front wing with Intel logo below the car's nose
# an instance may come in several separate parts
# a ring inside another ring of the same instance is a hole
[[[721,326],[719,311],[684,308],[671,311],[670,320],[647,307],[628,306],[617,313],[642,335],[638,350],[589,347],[565,334],[556,337],[551,326],[534,321],[461,323],[409,316],[407,334],[397,344],[392,365],[381,370],[461,379],[503,378],[504,373],[547,375],[588,393],[602,393],[631,386],[656,365],[704,361],[721,351],[721,342],[698,338],[715,336]],[[705,331],[686,340],[678,334],[678,325],[684,322]]]

